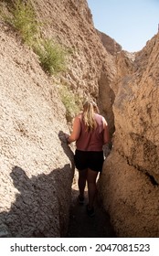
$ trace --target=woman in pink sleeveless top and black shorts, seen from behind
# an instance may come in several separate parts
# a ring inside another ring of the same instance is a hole
[[[80,204],[84,203],[84,189],[87,182],[89,196],[87,213],[92,217],[97,192],[96,179],[102,170],[104,161],[102,147],[109,143],[108,124],[99,113],[94,101],[85,101],[83,111],[74,119],[72,133],[66,134],[66,138],[69,144],[76,141],[74,161],[79,170],[80,195],[78,199]]]

